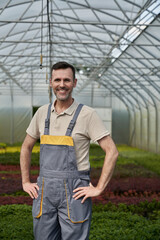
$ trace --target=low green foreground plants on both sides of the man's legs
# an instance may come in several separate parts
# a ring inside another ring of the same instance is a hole
[[[156,201],[138,206],[94,205],[90,240],[160,240],[159,208]],[[141,215],[145,209],[152,212],[151,218]],[[34,239],[31,206],[0,206],[0,216],[0,239]]]

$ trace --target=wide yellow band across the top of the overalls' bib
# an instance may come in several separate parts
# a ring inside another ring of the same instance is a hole
[[[73,138],[70,136],[42,135],[41,144],[74,146]]]

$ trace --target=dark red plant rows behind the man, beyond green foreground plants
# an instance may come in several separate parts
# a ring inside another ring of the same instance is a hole
[[[31,167],[32,171],[37,171],[38,167]],[[0,204],[26,203],[31,204],[30,197],[17,196],[17,191],[22,191],[20,172],[13,173],[13,170],[19,171],[19,166],[2,166],[0,170],[8,171],[0,174]],[[91,182],[97,185],[101,169],[92,169]],[[36,182],[38,175],[32,175],[31,181]],[[93,198],[93,202],[106,204],[109,201],[113,203],[137,204],[141,201],[152,201],[153,199],[160,200],[160,178],[144,178],[144,177],[126,177],[119,178],[119,175],[114,177],[109,182],[104,193]],[[9,196],[6,196],[8,194]],[[12,196],[11,196],[12,194]],[[24,194],[22,194],[24,195]],[[30,199],[30,200],[29,200]],[[27,202],[25,202],[27,201]]]

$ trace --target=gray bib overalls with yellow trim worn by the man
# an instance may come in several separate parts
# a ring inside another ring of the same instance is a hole
[[[33,225],[36,240],[89,239],[91,199],[75,200],[73,190],[88,186],[89,171],[78,171],[72,130],[83,107],[79,104],[65,136],[49,135],[51,104],[40,144],[38,198],[33,200]]]

